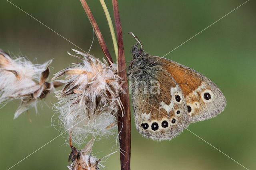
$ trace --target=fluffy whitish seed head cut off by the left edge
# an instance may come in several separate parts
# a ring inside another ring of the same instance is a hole
[[[0,104],[4,106],[8,101],[20,99],[21,103],[14,114],[16,119],[22,112],[35,107],[39,99],[63,83],[60,81],[46,82],[50,74],[46,63],[33,64],[26,57],[15,57],[0,49]]]

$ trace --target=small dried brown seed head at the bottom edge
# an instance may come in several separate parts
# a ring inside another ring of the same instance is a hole
[[[113,152],[111,154],[108,154],[107,156],[104,156],[101,159],[97,159],[95,156],[91,155],[93,143],[94,138],[92,138],[82,150],[78,150],[77,148],[72,146],[72,143],[70,142],[71,153],[68,157],[68,168],[70,170],[99,170],[99,167],[104,167],[99,162],[102,159],[117,152]]]

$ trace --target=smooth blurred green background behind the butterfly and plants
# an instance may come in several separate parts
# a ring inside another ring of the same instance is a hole
[[[93,30],[79,0],[11,0],[80,48],[88,51]],[[138,36],[144,49],[163,56],[185,42],[245,0],[119,0],[126,60]],[[112,2],[106,4],[113,16]],[[114,49],[106,17],[98,0],[88,0],[106,44]],[[249,1],[210,28],[186,42],[166,58],[206,75],[222,90],[227,107],[217,117],[191,124],[189,130],[249,169],[256,169],[256,3]],[[114,18],[112,17],[114,21]],[[54,58],[51,70],[60,71],[78,60],[67,51],[78,49],[6,0],[0,2],[0,48],[13,55],[25,55],[36,63]],[[90,51],[102,58],[98,40]],[[37,61],[34,60],[37,58]],[[1,80],[0,80],[1,81]],[[39,108],[13,120],[18,101],[0,110],[0,169],[8,169],[54,137],[51,94]],[[47,106],[48,105],[48,106]],[[95,142],[93,152],[101,158],[117,149],[114,138]],[[61,136],[14,166],[13,170],[68,169],[70,148]],[[104,163],[106,169],[120,169],[119,154]],[[132,118],[131,168],[146,169],[244,169],[218,150],[184,130],[171,141],[156,142],[136,131]]]

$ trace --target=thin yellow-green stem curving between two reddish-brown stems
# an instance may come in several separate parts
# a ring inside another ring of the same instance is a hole
[[[113,41],[114,50],[115,50],[115,54],[116,54],[116,60],[118,60],[118,46],[117,46],[117,42],[116,42],[116,34],[115,34],[114,27],[113,27],[113,23],[112,23],[112,20],[110,18],[110,14],[108,12],[108,8],[107,8],[104,0],[100,0],[100,4],[102,5],[102,8],[105,12],[105,15],[106,15],[106,18],[107,18],[107,21],[108,21],[108,27],[110,29],[110,33],[111,33],[111,36],[112,36],[112,41]]]

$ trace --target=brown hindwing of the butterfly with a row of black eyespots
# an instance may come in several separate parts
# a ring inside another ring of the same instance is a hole
[[[144,73],[134,72],[132,103],[138,132],[154,140],[175,137],[188,126],[189,119],[179,85],[159,65]]]

